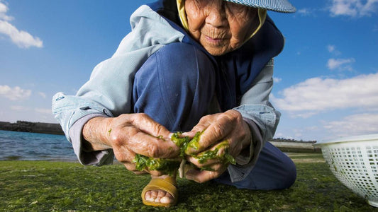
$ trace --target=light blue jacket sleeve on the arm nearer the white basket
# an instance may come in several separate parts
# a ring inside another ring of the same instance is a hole
[[[252,88],[243,95],[240,106],[233,109],[240,112],[250,126],[252,141],[250,149],[235,158],[237,164],[228,167],[232,182],[243,180],[252,171],[265,142],[272,139],[277,129],[281,114],[269,102],[273,86],[273,67],[271,59],[255,79]]]

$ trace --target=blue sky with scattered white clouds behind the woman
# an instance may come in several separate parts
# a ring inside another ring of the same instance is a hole
[[[59,91],[74,95],[152,1],[0,0],[0,121],[56,122]],[[378,0],[291,1],[273,13],[286,37],[275,58],[276,137],[378,133]]]

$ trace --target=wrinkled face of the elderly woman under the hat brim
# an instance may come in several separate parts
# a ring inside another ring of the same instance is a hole
[[[185,0],[190,35],[215,56],[243,45],[252,34],[257,11],[223,0]]]

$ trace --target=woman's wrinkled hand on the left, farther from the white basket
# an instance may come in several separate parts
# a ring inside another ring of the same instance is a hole
[[[113,148],[117,160],[135,173],[135,154],[152,158],[177,158],[179,148],[171,133],[147,114],[121,114],[115,118],[95,117],[84,125],[83,136],[91,151]],[[151,175],[162,175],[150,171]]]

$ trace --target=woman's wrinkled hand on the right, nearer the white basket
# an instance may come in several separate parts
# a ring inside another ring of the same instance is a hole
[[[193,137],[198,131],[204,131],[199,138],[198,148],[187,148],[186,153],[189,155],[187,160],[196,165],[196,167],[208,170],[189,170],[185,175],[187,179],[196,182],[206,182],[215,179],[227,170],[228,163],[224,164],[219,160],[207,160],[205,163],[199,163],[196,155],[201,155],[205,151],[218,148],[218,155],[226,151],[226,146],[218,145],[221,141],[228,141],[228,153],[236,158],[243,148],[250,145],[251,132],[248,124],[243,120],[240,112],[228,110],[223,113],[210,114],[202,117],[194,128],[183,135]],[[209,171],[209,168],[211,171]]]

